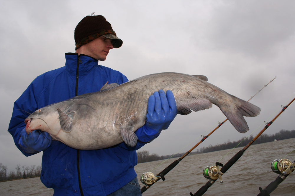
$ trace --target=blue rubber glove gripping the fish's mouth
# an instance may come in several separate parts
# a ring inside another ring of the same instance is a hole
[[[49,133],[39,130],[34,130],[27,134],[24,128],[20,133],[19,146],[26,153],[38,153],[46,150],[52,143],[52,138]]]

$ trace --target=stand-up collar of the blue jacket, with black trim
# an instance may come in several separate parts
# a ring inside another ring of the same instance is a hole
[[[97,66],[98,61],[91,56],[78,53],[65,53],[65,68],[70,73],[76,73],[78,59],[80,58],[81,63],[79,63],[79,73],[85,73],[91,70],[94,66]]]

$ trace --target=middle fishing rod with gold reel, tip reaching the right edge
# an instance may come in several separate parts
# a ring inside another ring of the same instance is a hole
[[[286,110],[286,108],[288,108],[288,106],[295,100],[295,98],[293,100],[291,100],[290,103],[288,103],[288,105],[286,106],[282,106],[282,110],[278,113],[278,115],[276,115],[275,118],[273,118],[273,120],[271,120],[270,122],[266,122],[266,126],[255,136],[255,138],[253,138],[242,150],[240,150],[237,154],[235,154],[235,156],[233,156],[225,165],[216,162],[216,167],[212,166],[212,169],[205,167],[205,169],[203,170],[203,175],[204,177],[210,179],[204,186],[202,186],[195,194],[192,194],[191,192],[189,193],[191,196],[201,196],[203,195],[209,187],[211,187],[214,182],[219,178],[220,182],[223,183],[221,176],[227,172],[228,169],[230,169],[230,167],[235,164],[235,162],[237,162],[237,160],[243,155],[243,153],[250,147],[250,145],[273,123],[273,121],[276,120],[276,118],[278,118],[279,115],[281,115],[281,113],[283,113],[283,111]],[[222,168],[219,170],[218,166],[222,166]]]

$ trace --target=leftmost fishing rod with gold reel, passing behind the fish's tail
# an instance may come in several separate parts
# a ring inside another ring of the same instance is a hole
[[[270,80],[269,83],[271,83],[275,78],[273,78],[272,80]],[[265,88],[269,83],[267,83],[266,85],[264,85],[263,88]],[[257,95],[263,88],[261,88],[260,90],[258,90],[258,92],[255,94]],[[251,98],[248,100],[250,101],[255,95],[251,96]],[[248,102],[247,101],[247,102]],[[184,153],[179,159],[175,160],[173,163],[171,163],[170,165],[168,165],[168,167],[166,167],[163,171],[161,171],[160,173],[158,173],[156,176],[152,173],[152,172],[145,172],[140,176],[140,181],[142,182],[142,184],[144,184],[145,186],[142,187],[140,189],[141,194],[143,192],[145,192],[146,190],[148,190],[148,188],[150,188],[153,184],[155,184],[158,180],[162,179],[163,181],[166,180],[164,175],[166,175],[168,172],[170,172],[183,158],[186,157],[186,155],[188,155],[192,150],[194,150],[199,144],[201,144],[205,139],[207,139],[214,131],[216,131],[221,125],[223,125],[223,123],[225,123],[228,119],[225,119],[222,123],[219,123],[219,125],[212,130],[208,135],[206,136],[202,136],[201,141],[199,141],[199,143],[197,143],[196,145],[194,145],[193,148],[191,148],[189,151],[187,151],[186,153]]]

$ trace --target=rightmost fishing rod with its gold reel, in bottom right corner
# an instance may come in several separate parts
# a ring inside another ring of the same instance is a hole
[[[270,196],[269,194],[271,194],[271,192],[273,192],[291,172],[295,171],[294,167],[295,161],[291,163],[291,161],[289,161],[288,159],[276,159],[273,162],[271,162],[271,170],[280,175],[276,178],[276,180],[271,182],[265,189],[262,190],[262,188],[259,187],[260,193],[257,196]]]

